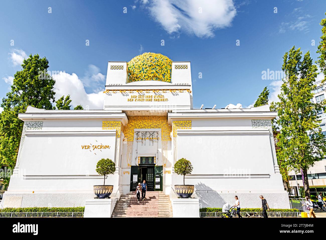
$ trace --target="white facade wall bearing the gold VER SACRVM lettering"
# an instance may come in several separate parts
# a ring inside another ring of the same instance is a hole
[[[83,206],[84,199],[95,196],[93,185],[104,181],[95,170],[97,161],[115,159],[116,130],[103,130],[101,119],[43,120],[42,127],[33,126],[23,131],[19,158],[2,202],[7,196],[22,196],[24,207]],[[105,180],[114,185],[113,193],[119,186],[116,169]]]

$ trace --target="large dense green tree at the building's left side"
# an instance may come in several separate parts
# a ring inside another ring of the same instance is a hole
[[[49,61],[38,54],[23,60],[22,70],[14,75],[11,91],[2,99],[0,118],[0,163],[14,168],[23,121],[18,119],[28,105],[52,109],[55,80],[47,74]]]

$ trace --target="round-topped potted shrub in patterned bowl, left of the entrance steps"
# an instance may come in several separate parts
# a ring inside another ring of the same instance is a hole
[[[114,162],[109,158],[102,158],[96,164],[96,172],[104,176],[104,184],[95,185],[94,194],[97,196],[97,198],[110,198],[113,191],[113,185],[105,185],[105,176],[115,172]]]

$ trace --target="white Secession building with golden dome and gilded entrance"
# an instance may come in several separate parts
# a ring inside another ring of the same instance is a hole
[[[28,107],[16,167],[2,207],[84,206],[103,184],[96,171],[110,158],[112,196],[135,189],[176,195],[183,184],[173,165],[186,158],[201,207],[221,207],[238,195],[242,207],[289,208],[277,166],[269,106],[193,109],[190,62],[145,53],[108,64],[103,110]]]

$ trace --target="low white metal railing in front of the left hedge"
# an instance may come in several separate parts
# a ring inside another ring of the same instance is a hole
[[[0,213],[0,217],[83,217],[83,212],[9,212]]]

